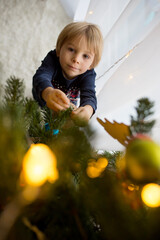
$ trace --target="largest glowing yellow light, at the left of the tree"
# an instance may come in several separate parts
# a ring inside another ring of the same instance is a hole
[[[41,186],[47,180],[58,178],[56,157],[45,144],[32,144],[23,159],[25,181],[32,186]]]

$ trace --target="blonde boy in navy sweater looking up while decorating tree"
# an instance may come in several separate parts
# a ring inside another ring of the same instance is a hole
[[[94,68],[101,59],[102,47],[97,25],[68,24],[59,34],[56,49],[47,54],[33,76],[33,97],[39,105],[56,112],[72,105],[71,118],[88,122],[97,108]]]

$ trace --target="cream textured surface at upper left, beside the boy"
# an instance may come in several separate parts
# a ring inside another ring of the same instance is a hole
[[[31,95],[32,76],[71,21],[59,0],[0,0],[0,82],[15,75]]]

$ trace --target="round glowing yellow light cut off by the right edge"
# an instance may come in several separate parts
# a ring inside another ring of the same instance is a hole
[[[141,197],[148,207],[160,207],[160,186],[155,183],[145,185]]]

